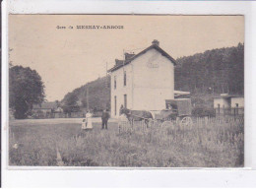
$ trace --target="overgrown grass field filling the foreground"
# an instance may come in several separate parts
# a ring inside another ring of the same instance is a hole
[[[243,166],[243,123],[235,120],[195,121],[191,128],[118,129],[109,123],[108,130],[94,123],[92,131],[82,131],[75,123],[29,120],[10,126],[10,165]]]

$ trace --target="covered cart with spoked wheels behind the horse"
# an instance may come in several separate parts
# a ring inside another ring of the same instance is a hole
[[[166,108],[155,113],[154,121],[160,122],[160,127],[182,127],[193,123],[191,118],[192,106],[190,98],[166,99]]]

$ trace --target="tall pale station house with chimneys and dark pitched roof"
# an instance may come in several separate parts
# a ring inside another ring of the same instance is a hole
[[[174,98],[175,60],[159,41],[138,54],[116,60],[111,74],[111,116],[119,116],[121,105],[133,110],[160,110],[165,99]]]

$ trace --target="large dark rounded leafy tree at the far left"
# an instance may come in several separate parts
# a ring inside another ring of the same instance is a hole
[[[17,119],[27,118],[32,104],[44,100],[44,85],[41,77],[30,67],[13,66],[9,70],[10,108]]]

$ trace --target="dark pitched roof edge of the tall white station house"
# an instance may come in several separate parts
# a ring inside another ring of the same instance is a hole
[[[151,46],[147,47],[146,49],[144,49],[143,51],[139,52],[138,54],[130,57],[128,60],[125,60],[124,63],[122,64],[118,64],[118,65],[114,65],[113,68],[109,69],[107,72],[113,72],[121,67],[123,67],[124,65],[127,65],[129,63],[131,63],[131,61],[133,61],[134,59],[136,59],[137,57],[141,56],[142,54],[146,53],[148,50],[155,48],[156,50],[158,50],[162,56],[165,56],[167,59],[169,59],[174,65],[176,65],[176,61],[169,55],[167,54],[163,49],[160,48],[160,46],[158,46],[157,44],[152,44]]]

